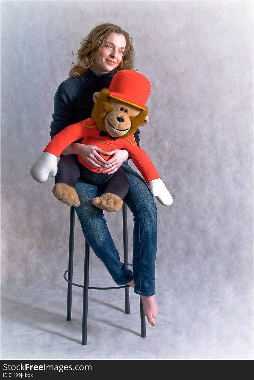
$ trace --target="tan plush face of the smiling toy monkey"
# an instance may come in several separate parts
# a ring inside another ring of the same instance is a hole
[[[109,103],[113,111],[105,116],[105,128],[112,137],[123,136],[131,128],[130,116],[139,115],[140,109],[113,98],[110,99]]]

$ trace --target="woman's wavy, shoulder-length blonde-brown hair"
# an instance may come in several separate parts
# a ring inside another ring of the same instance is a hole
[[[104,43],[110,33],[123,34],[126,40],[125,51],[123,59],[115,68],[115,73],[120,70],[133,70],[135,53],[132,45],[132,38],[127,32],[122,30],[118,25],[114,24],[100,24],[97,25],[91,32],[80,42],[80,49],[77,52],[77,62],[73,63],[73,68],[69,72],[69,78],[73,76],[80,76],[84,74],[88,67],[92,66],[93,60],[100,54],[103,49]]]

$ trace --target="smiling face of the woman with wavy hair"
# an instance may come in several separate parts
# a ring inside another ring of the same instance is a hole
[[[104,43],[102,51],[93,60],[92,69],[101,74],[114,70],[123,59],[125,46],[126,41],[123,34],[110,33]]]

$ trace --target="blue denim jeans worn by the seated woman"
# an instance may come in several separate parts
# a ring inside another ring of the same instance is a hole
[[[93,206],[99,195],[96,185],[77,180],[80,206],[75,207],[87,243],[103,261],[117,285],[134,279],[134,292],[143,296],[155,294],[155,258],[157,249],[157,211],[145,180],[125,161],[121,168],[129,179],[129,192],[124,202],[133,212],[133,271],[125,268],[107,228],[103,210]]]

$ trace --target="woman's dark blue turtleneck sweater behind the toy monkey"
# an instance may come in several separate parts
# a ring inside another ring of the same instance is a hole
[[[55,93],[53,121],[50,124],[51,138],[67,125],[90,117],[94,106],[93,93],[109,87],[113,76],[114,70],[100,74],[88,68],[85,74],[63,81]],[[134,135],[139,145],[139,130]]]

